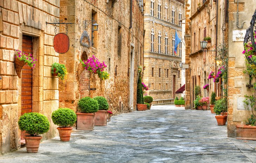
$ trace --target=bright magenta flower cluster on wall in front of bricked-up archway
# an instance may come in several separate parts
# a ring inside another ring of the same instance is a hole
[[[107,67],[104,61],[102,63],[99,62],[99,59],[97,59],[95,56],[89,57],[87,61],[83,61],[82,64],[85,66],[86,70],[94,73],[104,71],[104,69]]]

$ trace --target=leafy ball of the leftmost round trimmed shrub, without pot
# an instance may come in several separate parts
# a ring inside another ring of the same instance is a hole
[[[18,124],[21,131],[31,136],[46,133],[50,129],[49,120],[40,113],[25,113],[20,116]]]

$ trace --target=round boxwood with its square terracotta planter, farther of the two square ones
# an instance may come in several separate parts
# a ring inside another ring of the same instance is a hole
[[[99,104],[99,111],[95,113],[94,125],[96,126],[106,126],[107,116],[108,116],[108,101],[105,97],[96,96],[93,99],[97,100]]]

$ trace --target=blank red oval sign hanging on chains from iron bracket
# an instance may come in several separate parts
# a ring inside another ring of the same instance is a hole
[[[69,38],[65,33],[56,34],[53,38],[53,48],[56,52],[63,54],[69,49]]]

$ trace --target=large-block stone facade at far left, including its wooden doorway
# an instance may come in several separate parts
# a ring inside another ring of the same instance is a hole
[[[56,134],[50,116],[59,108],[59,83],[50,69],[59,54],[53,48],[54,28],[46,21],[58,19],[58,0],[0,1],[0,154],[20,147],[18,120],[23,113],[47,116],[50,130],[43,139]],[[34,69],[23,67],[21,78],[14,68],[15,49],[38,60]]]

